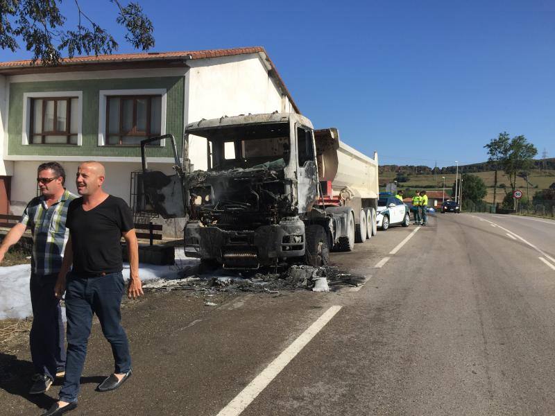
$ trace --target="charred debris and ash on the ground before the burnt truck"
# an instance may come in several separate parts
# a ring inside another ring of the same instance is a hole
[[[175,279],[160,279],[143,287],[152,291],[255,292],[278,294],[282,291],[336,291],[341,286],[359,286],[364,276],[343,272],[334,266],[294,265],[282,272],[263,270],[239,272],[218,269],[200,272],[198,266],[186,268]]]

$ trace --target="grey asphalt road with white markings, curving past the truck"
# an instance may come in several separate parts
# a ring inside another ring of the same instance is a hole
[[[415,229],[333,254],[368,277],[358,291],[126,302],[132,378],[94,392],[112,370],[96,324],[69,414],[233,415],[238,395],[251,416],[554,414],[555,221],[438,214]],[[24,344],[0,349],[2,415],[38,415],[56,397],[59,386],[25,394],[28,361]]]

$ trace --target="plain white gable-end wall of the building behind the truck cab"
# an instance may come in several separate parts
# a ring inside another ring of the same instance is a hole
[[[185,125],[221,116],[291,111],[259,55],[191,61]],[[187,93],[186,93],[187,95]],[[189,137],[189,158],[195,169],[207,168],[206,140]]]

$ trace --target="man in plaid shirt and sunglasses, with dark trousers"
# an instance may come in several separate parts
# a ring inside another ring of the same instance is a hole
[[[54,378],[65,371],[64,324],[60,301],[54,295],[58,272],[69,229],[65,227],[67,207],[76,196],[64,188],[65,171],[58,162],[41,164],[37,169],[40,196],[28,203],[21,220],[0,245],[0,263],[11,245],[31,228],[31,305],[33,326],[29,336],[31,358],[36,374],[29,391],[38,395],[50,388]]]

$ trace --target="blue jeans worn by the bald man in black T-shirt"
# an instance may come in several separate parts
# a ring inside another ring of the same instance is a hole
[[[60,400],[77,400],[93,313],[98,316],[102,333],[112,346],[114,372],[120,374],[131,369],[129,344],[121,327],[120,304],[124,288],[121,272],[99,277],[69,273],[65,289],[67,362]]]

